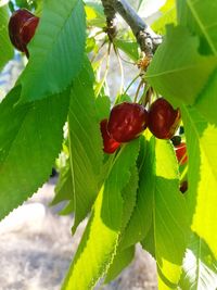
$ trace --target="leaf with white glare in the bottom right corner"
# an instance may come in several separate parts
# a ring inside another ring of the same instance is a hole
[[[192,234],[183,260],[179,286],[189,290],[217,288],[217,261],[207,244],[195,234]]]

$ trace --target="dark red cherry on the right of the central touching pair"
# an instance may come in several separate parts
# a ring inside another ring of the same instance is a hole
[[[179,127],[180,110],[174,110],[169,102],[159,98],[149,110],[149,129],[159,139],[170,139]]]

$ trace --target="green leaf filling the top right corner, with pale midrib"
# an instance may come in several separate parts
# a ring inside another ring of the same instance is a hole
[[[177,11],[178,22],[201,36],[201,50],[217,55],[217,2],[179,0]]]

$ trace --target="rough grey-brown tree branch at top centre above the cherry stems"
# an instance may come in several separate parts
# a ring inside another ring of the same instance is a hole
[[[156,35],[149,25],[137,14],[126,0],[101,0],[107,21],[115,21],[116,12],[130,26],[135,37],[146,56],[152,56],[162,43],[162,37]],[[108,24],[108,22],[107,22]]]

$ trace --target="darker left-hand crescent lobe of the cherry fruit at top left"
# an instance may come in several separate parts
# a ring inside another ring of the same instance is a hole
[[[21,40],[21,28],[24,23],[29,18],[34,17],[34,14],[26,9],[20,9],[15,11],[9,21],[9,36],[12,45],[20,51],[25,51],[24,46]]]

